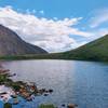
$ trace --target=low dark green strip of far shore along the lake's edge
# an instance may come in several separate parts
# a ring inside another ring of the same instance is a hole
[[[31,55],[9,55],[9,56],[0,56],[0,60],[79,60],[79,62],[95,62],[95,63],[108,63],[108,60],[99,60],[99,59],[84,59],[77,57],[64,57],[63,53],[51,53],[51,54],[31,54]]]

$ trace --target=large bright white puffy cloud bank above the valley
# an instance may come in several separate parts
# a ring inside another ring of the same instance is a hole
[[[77,41],[70,36],[92,36],[90,32],[72,27],[82,17],[48,19],[28,13],[19,13],[11,6],[0,8],[0,24],[17,32],[27,42],[50,52],[64,51],[77,44]]]

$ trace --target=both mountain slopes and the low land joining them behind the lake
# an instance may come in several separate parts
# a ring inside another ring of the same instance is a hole
[[[68,52],[48,54],[46,51],[25,42],[15,32],[0,25],[0,56],[1,55],[4,56],[0,57],[1,59],[46,58],[108,62],[108,35]],[[13,56],[5,57],[5,55]]]

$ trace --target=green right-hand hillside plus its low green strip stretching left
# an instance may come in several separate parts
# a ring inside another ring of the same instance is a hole
[[[78,49],[64,53],[32,54],[11,57],[0,57],[0,59],[77,59],[77,60],[98,60],[108,62],[108,35],[92,41]]]

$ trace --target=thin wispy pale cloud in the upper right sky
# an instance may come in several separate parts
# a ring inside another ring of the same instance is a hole
[[[94,12],[95,16],[92,17],[91,27],[95,28],[102,25],[103,23],[108,23],[108,9],[103,9]]]

